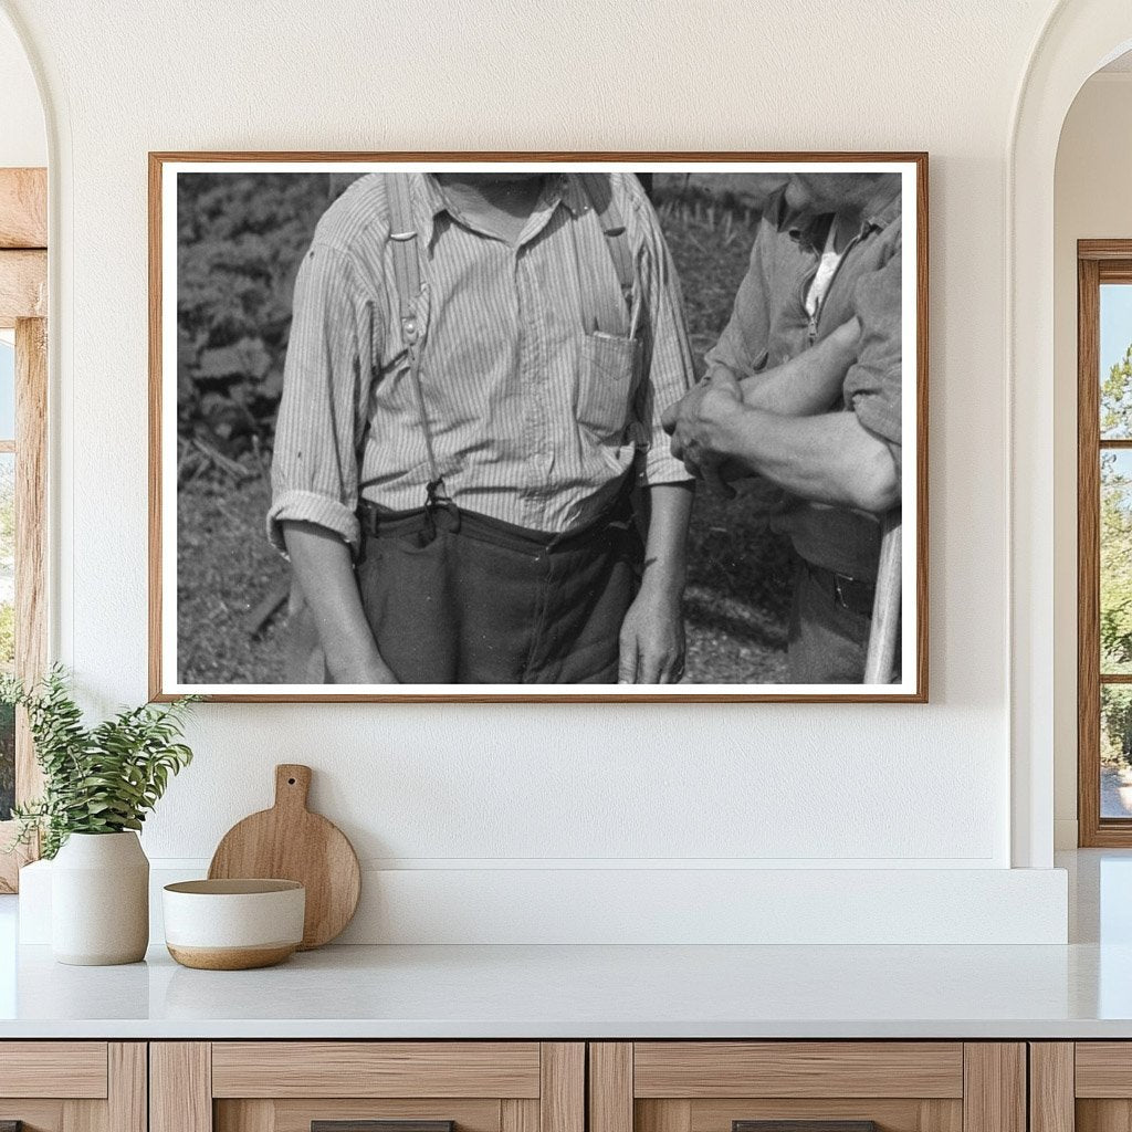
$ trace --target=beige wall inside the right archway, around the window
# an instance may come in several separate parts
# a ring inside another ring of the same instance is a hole
[[[1132,239],[1132,72],[1096,75],[1065,119],[1055,178],[1055,816],[1077,844],[1077,241]]]

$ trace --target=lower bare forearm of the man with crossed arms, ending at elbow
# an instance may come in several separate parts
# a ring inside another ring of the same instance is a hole
[[[714,451],[792,495],[875,513],[900,501],[892,453],[855,413],[779,417],[743,406],[713,427]]]

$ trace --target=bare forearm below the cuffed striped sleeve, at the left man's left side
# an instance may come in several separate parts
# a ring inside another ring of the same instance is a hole
[[[366,618],[350,548],[314,523],[284,522],[283,538],[334,683],[395,683]]]

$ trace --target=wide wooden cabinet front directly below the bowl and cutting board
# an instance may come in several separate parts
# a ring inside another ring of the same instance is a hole
[[[154,1043],[151,1088],[151,1132],[585,1132],[581,1043]]]

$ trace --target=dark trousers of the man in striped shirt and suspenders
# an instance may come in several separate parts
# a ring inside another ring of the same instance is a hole
[[[641,542],[627,518],[578,534],[439,508],[363,514],[358,564],[378,650],[403,684],[616,684]]]

